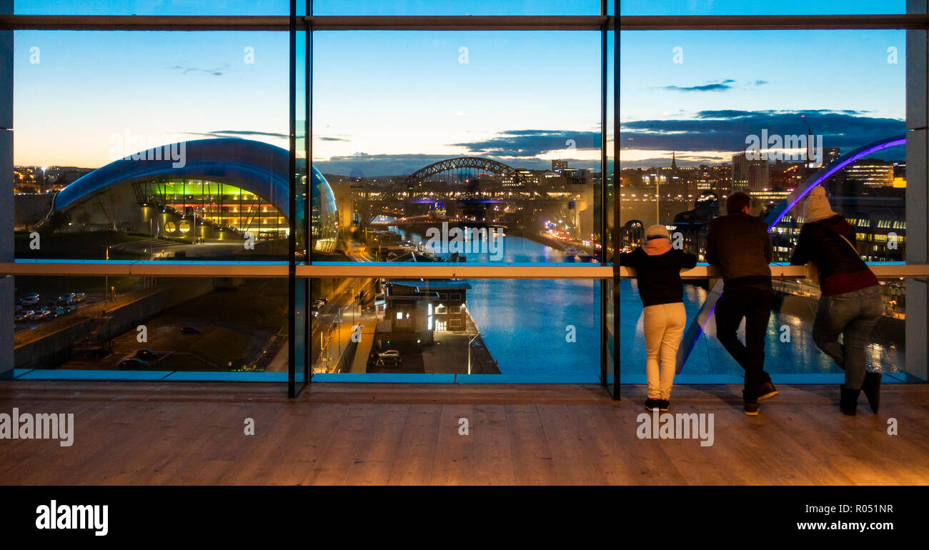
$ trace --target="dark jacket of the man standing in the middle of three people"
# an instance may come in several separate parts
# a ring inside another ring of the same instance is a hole
[[[771,237],[761,219],[736,212],[713,218],[706,236],[706,261],[723,271],[726,288],[771,286]]]

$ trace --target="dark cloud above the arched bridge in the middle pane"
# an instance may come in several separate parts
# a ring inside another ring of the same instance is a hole
[[[498,157],[530,160],[551,151],[600,149],[600,133],[572,130],[509,130],[501,132],[497,138],[451,145],[464,147],[468,154],[489,156],[497,160]]]

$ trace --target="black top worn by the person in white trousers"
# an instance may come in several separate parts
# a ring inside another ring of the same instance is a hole
[[[681,269],[697,265],[697,256],[672,248],[661,255],[648,255],[641,248],[620,255],[620,265],[635,268],[643,306],[684,301]]]

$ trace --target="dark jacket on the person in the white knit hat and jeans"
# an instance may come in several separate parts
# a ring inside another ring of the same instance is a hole
[[[822,295],[844,295],[878,284],[874,273],[857,253],[855,228],[842,216],[807,222],[800,229],[791,265],[802,266],[809,261],[819,272]]]

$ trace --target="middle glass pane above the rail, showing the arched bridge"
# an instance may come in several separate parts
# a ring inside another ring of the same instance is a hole
[[[338,210],[314,262],[595,260],[600,41],[314,33],[313,164]],[[567,66],[567,95],[517,76]]]

